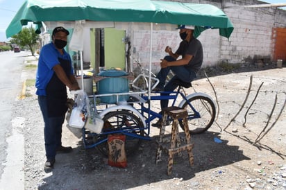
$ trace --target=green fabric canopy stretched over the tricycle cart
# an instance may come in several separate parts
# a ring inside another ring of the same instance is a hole
[[[224,12],[208,4],[149,0],[26,0],[6,29],[6,37],[19,33],[28,21],[33,21],[39,29],[42,21],[78,20],[186,24],[196,26],[196,36],[206,28],[219,28],[219,34],[224,37],[230,37],[233,32],[233,24]]]

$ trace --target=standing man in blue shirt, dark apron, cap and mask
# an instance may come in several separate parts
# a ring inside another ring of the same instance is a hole
[[[35,86],[44,119],[45,169],[53,168],[56,153],[69,153],[72,147],[62,146],[62,124],[67,112],[67,87],[79,89],[67,45],[67,31],[62,26],[53,29],[52,42],[42,47],[37,65]]]

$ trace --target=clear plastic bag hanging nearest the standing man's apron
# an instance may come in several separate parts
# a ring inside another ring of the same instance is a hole
[[[83,128],[87,119],[88,96],[85,92],[80,91],[76,96],[72,114],[69,119],[69,126],[74,128]]]

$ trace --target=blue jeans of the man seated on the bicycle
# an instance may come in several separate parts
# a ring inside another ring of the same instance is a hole
[[[170,55],[165,56],[164,59],[169,61],[169,62],[176,61],[176,59],[171,57]],[[164,87],[167,75],[169,74],[170,70],[173,71],[175,76],[173,78],[171,78],[171,80],[169,80],[167,85]],[[194,80],[194,78],[196,78],[196,72],[192,71],[191,69],[187,69],[184,66],[170,66],[170,67],[162,68],[159,71],[157,78],[160,80],[158,87],[160,87],[160,88],[164,87],[165,91],[172,92],[172,91],[174,91],[174,89],[176,89],[176,87],[178,87],[178,84],[173,82],[174,80],[179,79],[179,80],[182,80],[186,83],[191,83],[192,80]],[[161,93],[161,95],[166,96],[169,94]],[[168,107],[168,103],[169,103],[168,100],[160,101],[161,109],[164,107]]]

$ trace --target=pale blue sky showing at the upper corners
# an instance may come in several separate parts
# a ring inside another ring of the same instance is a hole
[[[0,42],[8,42],[9,39],[6,39],[6,28],[9,26],[10,21],[12,21],[24,1],[25,0],[0,0]],[[286,3],[286,0],[264,0],[264,2]]]

